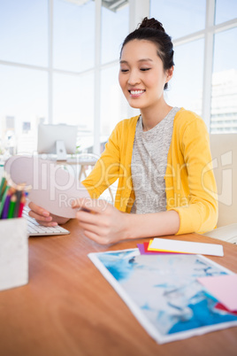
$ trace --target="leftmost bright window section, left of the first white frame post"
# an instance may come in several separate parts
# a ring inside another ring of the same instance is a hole
[[[34,150],[48,120],[48,31],[47,0],[0,0],[0,150]]]

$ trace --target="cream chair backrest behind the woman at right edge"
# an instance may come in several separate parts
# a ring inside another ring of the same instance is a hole
[[[218,227],[237,222],[237,134],[210,135],[218,186]]]

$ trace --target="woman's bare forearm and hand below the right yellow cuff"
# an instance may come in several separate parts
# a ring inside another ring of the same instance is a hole
[[[85,236],[98,244],[114,244],[125,239],[173,235],[179,231],[180,216],[174,210],[160,213],[121,213],[101,199],[80,198],[76,218]]]

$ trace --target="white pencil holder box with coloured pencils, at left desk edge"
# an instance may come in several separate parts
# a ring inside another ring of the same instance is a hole
[[[28,282],[27,221],[23,218],[0,221],[0,290]]]

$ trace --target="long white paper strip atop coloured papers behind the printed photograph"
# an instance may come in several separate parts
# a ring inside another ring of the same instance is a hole
[[[224,256],[223,246],[221,244],[193,243],[188,241],[169,240],[166,238],[154,238],[149,245],[149,250]]]

